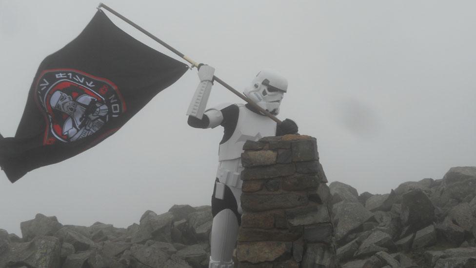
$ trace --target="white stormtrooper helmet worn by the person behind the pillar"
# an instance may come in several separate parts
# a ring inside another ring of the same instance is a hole
[[[284,77],[270,70],[262,70],[243,93],[261,108],[277,115],[287,89],[288,81]]]

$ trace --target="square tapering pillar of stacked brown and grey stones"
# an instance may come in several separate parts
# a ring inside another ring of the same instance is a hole
[[[335,267],[330,191],[316,139],[266,137],[243,149],[238,267]]]

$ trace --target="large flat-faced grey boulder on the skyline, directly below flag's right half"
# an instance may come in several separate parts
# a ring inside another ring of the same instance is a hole
[[[171,242],[171,227],[174,220],[172,212],[157,215],[154,211],[147,210],[140,217],[139,229],[133,234],[131,242],[142,244],[147,240]]]

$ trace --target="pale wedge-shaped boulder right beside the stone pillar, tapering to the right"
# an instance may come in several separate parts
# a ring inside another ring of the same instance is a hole
[[[342,240],[352,231],[362,227],[363,223],[375,221],[374,215],[360,203],[339,202],[333,207],[335,236]]]

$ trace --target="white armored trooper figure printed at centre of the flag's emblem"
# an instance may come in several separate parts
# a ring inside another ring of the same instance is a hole
[[[91,103],[93,109],[87,111]],[[81,95],[73,101],[71,96],[56,91],[51,96],[50,104],[53,109],[69,115],[64,121],[62,134],[72,142],[98,131],[105,124],[100,117],[107,115],[108,112],[105,104],[96,103],[96,99],[88,95]]]

